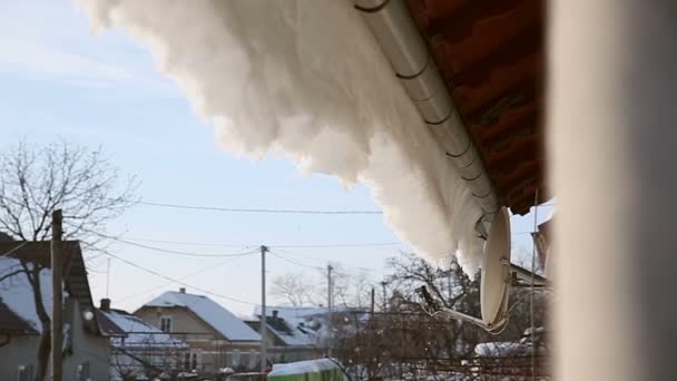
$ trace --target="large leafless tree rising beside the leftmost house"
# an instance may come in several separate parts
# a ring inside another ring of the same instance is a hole
[[[19,141],[0,154],[0,229],[19,241],[51,237],[51,215],[63,211],[63,238],[79,240],[85,248],[105,248],[105,228],[134,204],[134,177],[120,184],[117,168],[101,150],[65,140],[42,147]],[[21,268],[2,277],[23,273],[31,284],[36,311],[42,325],[36,379],[47,374],[50,353],[50,318],[45,309],[38,263],[21,261]],[[0,279],[1,281],[2,279]]]

